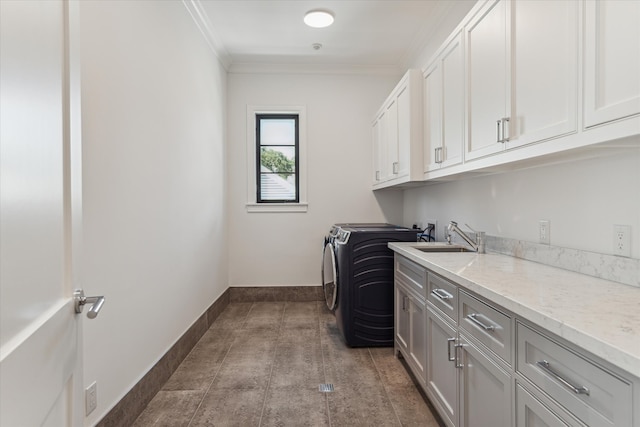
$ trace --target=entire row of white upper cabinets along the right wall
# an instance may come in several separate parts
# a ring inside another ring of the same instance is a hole
[[[640,0],[479,0],[417,74],[376,116],[374,189],[638,145]]]

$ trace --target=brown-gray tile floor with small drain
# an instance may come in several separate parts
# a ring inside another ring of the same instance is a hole
[[[134,424],[438,425],[393,349],[347,347],[318,301],[230,303]]]

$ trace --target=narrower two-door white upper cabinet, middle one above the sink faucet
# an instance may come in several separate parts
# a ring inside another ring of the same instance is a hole
[[[462,163],[464,49],[462,32],[423,73],[424,172]]]

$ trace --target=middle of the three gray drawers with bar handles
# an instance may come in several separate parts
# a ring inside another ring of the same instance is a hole
[[[460,292],[460,328],[511,364],[511,317]]]

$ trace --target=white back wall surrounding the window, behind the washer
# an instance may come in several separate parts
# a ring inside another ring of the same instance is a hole
[[[230,74],[229,284],[319,285],[336,222],[402,221],[402,193],[371,191],[371,122],[401,76]],[[306,213],[247,213],[246,106],[304,105]]]

